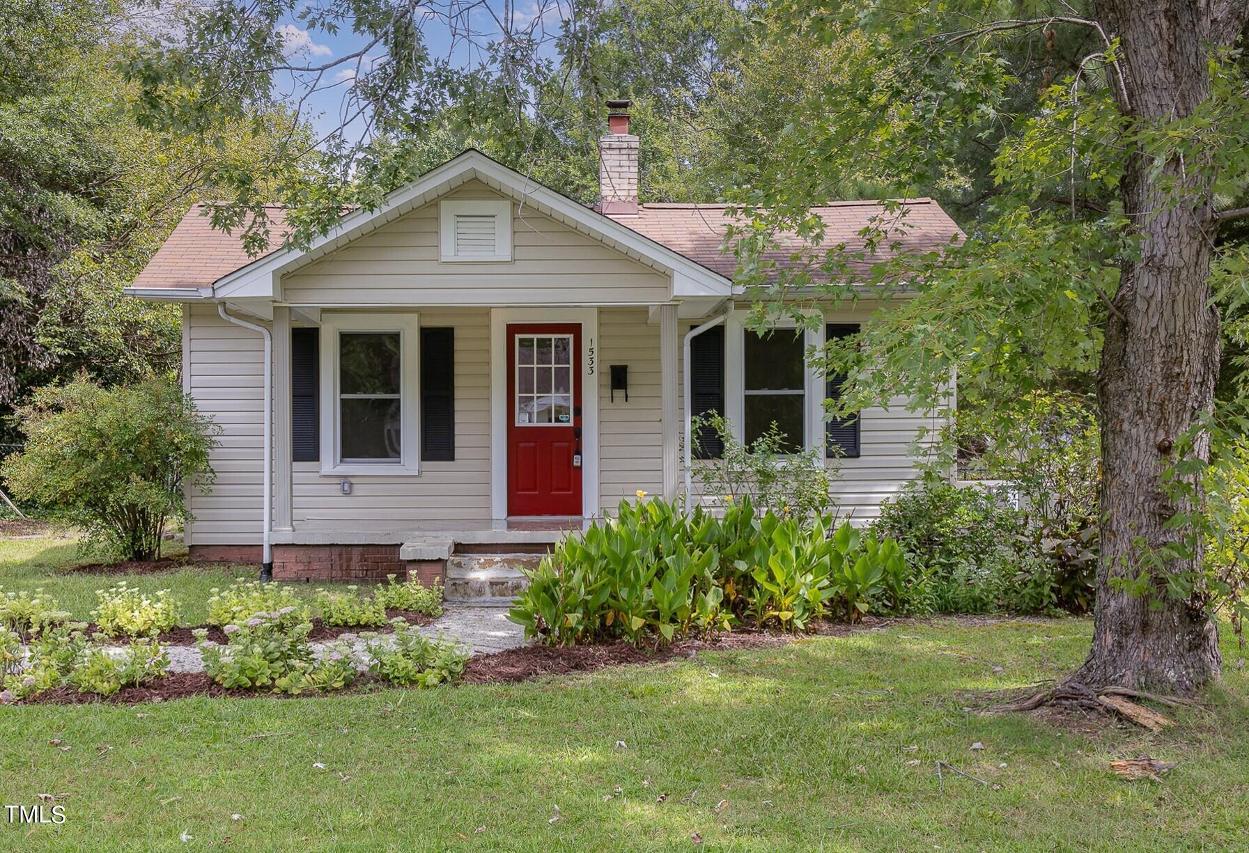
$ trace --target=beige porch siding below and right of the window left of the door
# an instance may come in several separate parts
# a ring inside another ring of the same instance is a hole
[[[490,311],[421,308],[420,322],[455,328],[456,458],[421,462],[413,476],[352,475],[351,495],[342,493],[341,477],[321,475],[320,462],[296,462],[291,496],[296,533],[392,532],[427,522],[490,518]]]

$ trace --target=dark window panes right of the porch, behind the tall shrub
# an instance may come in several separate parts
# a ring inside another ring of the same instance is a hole
[[[776,423],[787,450],[802,451],[807,446],[803,336],[779,328],[766,337],[751,331],[743,337],[743,440],[749,445]]]

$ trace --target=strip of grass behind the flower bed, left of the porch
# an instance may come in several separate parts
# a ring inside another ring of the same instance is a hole
[[[166,557],[185,555],[186,548],[179,543],[165,551]],[[212,587],[224,588],[236,578],[256,577],[255,566],[234,565],[192,565],[176,572],[159,574],[75,574],[72,571],[75,566],[99,562],[97,558],[82,556],[79,552],[77,540],[72,536],[0,538],[0,589],[16,592],[42,587],[45,593],[55,598],[62,609],[72,613],[75,619],[89,621],[91,609],[96,606],[96,589],[106,589],[119,581],[125,581],[127,586],[146,592],[172,591],[182,604],[181,622],[202,624],[207,617],[205,602]],[[295,588],[300,594],[311,597],[317,587],[302,583],[295,584]]]

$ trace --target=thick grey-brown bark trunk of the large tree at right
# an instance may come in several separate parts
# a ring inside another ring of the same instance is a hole
[[[1119,105],[1153,126],[1190,115],[1207,99],[1209,45],[1230,44],[1244,24],[1244,0],[1228,4],[1223,20],[1200,0],[1097,6],[1105,30],[1122,41]],[[1164,528],[1189,507],[1168,496],[1163,472],[1175,462],[1179,437],[1214,403],[1219,316],[1209,305],[1215,227],[1209,172],[1207,164],[1179,157],[1159,167],[1138,152],[1123,184],[1140,257],[1123,265],[1098,375],[1102,563],[1093,648],[1075,674],[1090,686],[1189,693],[1219,676],[1218,632],[1200,591],[1178,598],[1165,588],[1167,574],[1200,569],[1200,542],[1190,558],[1160,566],[1142,558],[1190,533]],[[1208,442],[1195,452],[1207,458]],[[1152,576],[1144,596],[1112,584],[1117,576],[1140,573]]]

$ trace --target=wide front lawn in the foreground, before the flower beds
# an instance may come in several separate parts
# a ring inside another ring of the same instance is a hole
[[[17,572],[40,569],[5,565],[0,583]],[[1089,632],[934,619],[511,686],[7,708],[0,802],[65,793],[67,819],[0,822],[0,849],[1249,847],[1233,667],[1162,736],[970,709],[1069,671]],[[1179,767],[1108,769],[1145,753]],[[945,771],[939,787],[937,759],[990,784]]]

